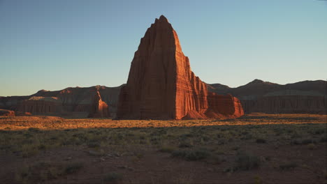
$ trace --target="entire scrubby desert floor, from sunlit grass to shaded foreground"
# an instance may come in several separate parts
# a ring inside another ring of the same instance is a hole
[[[0,183],[327,183],[327,116],[0,118]]]

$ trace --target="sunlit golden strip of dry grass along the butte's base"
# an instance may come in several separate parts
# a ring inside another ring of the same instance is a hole
[[[249,114],[241,118],[225,120],[111,120],[111,119],[65,119],[55,116],[16,116],[0,117],[0,129],[22,130],[40,128],[43,130],[60,130],[72,128],[160,128],[160,127],[194,127],[214,125],[276,125],[326,123],[326,115],[318,114]]]

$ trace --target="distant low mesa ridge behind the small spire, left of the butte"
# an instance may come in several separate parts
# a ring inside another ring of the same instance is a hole
[[[22,115],[29,112],[35,115],[86,118],[87,116],[108,117],[110,112],[110,115],[115,116],[120,88],[121,86],[113,88],[92,86],[70,87],[60,91],[41,90],[29,96],[0,97],[0,108],[19,111]],[[99,109],[94,112],[97,95],[100,95],[101,102],[97,102]],[[108,109],[105,108],[105,104]]]

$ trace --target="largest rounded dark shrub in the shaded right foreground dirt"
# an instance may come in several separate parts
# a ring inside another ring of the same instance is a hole
[[[235,159],[234,169],[250,170],[256,169],[260,166],[260,158],[256,155],[250,155],[249,153],[238,153]]]

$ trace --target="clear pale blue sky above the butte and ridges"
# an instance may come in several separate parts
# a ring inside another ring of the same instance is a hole
[[[160,15],[204,82],[327,77],[327,1],[0,0],[0,95],[126,83]]]

